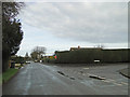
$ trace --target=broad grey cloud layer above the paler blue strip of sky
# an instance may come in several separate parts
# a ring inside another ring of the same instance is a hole
[[[128,42],[127,3],[26,3],[22,22],[61,39],[90,43]]]

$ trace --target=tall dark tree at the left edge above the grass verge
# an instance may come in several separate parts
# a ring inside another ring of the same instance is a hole
[[[2,2],[2,71],[8,69],[11,55],[20,50],[23,31],[22,24],[15,16],[23,5],[23,2]]]

